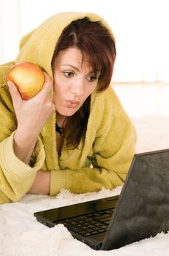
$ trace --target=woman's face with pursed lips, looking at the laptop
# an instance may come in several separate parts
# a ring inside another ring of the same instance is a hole
[[[72,116],[95,91],[100,72],[93,72],[77,48],[61,51],[54,64],[54,102],[61,116]]]

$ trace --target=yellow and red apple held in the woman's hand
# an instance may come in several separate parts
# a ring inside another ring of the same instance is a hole
[[[34,97],[44,84],[44,73],[39,66],[31,62],[20,62],[9,70],[7,80],[17,86],[22,99]]]

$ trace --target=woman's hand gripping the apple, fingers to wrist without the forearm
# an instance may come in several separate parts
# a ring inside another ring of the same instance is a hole
[[[29,100],[23,100],[17,87],[11,81],[8,82],[9,91],[17,117],[17,130],[28,133],[36,138],[48,118],[55,112],[55,105],[50,97],[52,81],[44,72],[45,82],[42,90]]]

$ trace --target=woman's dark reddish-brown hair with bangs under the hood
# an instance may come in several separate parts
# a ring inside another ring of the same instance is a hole
[[[101,70],[98,91],[104,91],[111,82],[116,59],[115,42],[109,30],[99,22],[90,21],[89,18],[72,21],[58,39],[52,58],[52,67],[58,53],[69,47],[78,48],[82,53],[82,61],[87,59],[94,72]],[[79,145],[87,129],[89,114],[90,97],[73,116],[66,118],[65,134],[69,148],[76,148]]]

